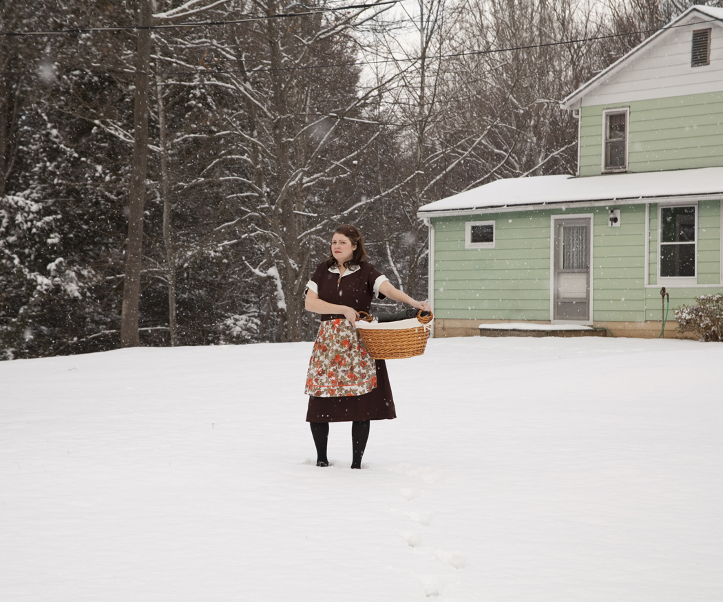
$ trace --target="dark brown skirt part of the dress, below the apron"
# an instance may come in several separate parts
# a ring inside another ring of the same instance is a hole
[[[377,364],[377,388],[364,395],[314,397],[309,395],[307,422],[346,422],[396,418],[392,387],[384,360]]]

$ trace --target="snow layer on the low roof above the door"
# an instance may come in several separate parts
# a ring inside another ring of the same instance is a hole
[[[424,217],[437,212],[578,202],[664,200],[723,194],[723,167],[610,173],[604,176],[507,178],[419,207]]]

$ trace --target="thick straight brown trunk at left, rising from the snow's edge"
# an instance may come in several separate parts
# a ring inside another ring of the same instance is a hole
[[[138,0],[139,25],[151,24],[150,0]],[[121,347],[137,347],[140,272],[143,251],[143,207],[148,165],[148,87],[150,69],[150,30],[137,30],[135,103],[133,111],[133,165],[128,201],[126,270],[121,310]]]

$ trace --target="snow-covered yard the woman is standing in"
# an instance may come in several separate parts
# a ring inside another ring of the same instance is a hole
[[[1,362],[0,600],[723,599],[723,345],[432,340],[361,471],[310,348]]]

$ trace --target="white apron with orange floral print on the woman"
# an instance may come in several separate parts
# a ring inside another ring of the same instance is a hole
[[[346,319],[322,322],[304,392],[313,397],[350,397],[376,388],[377,367],[356,328]]]

